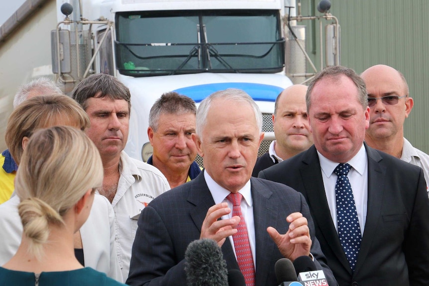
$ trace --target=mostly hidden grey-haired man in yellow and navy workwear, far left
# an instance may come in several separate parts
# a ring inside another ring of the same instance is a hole
[[[60,88],[50,79],[38,78],[27,84],[21,85],[14,98],[13,108],[27,100],[28,98],[37,95],[54,95],[62,94]],[[0,203],[5,202],[10,198],[14,188],[14,180],[18,165],[16,165],[9,150],[6,149],[0,155]]]

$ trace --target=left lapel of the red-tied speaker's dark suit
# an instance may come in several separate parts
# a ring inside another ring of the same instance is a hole
[[[201,172],[197,178],[188,184],[190,186],[188,202],[195,206],[190,210],[190,215],[195,226],[201,233],[201,226],[206,218],[207,211],[214,205],[214,200],[209,187],[207,187],[206,180],[204,179],[204,172]],[[239,269],[228,238],[225,239],[222,245],[222,253],[228,269]]]

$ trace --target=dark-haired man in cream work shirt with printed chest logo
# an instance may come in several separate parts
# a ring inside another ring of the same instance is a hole
[[[100,151],[104,180],[98,191],[107,197],[115,212],[117,255],[126,279],[140,212],[170,187],[158,169],[123,151],[131,109],[127,87],[112,76],[96,74],[80,82],[72,97],[87,112],[91,126],[86,133]]]

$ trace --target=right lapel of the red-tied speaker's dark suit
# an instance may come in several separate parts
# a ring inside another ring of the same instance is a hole
[[[255,237],[256,237],[256,273],[255,285],[266,285],[267,273],[273,258],[275,244],[267,232],[267,227],[277,227],[277,208],[273,204],[269,204],[269,198],[272,191],[266,188],[259,187],[259,182],[255,179],[250,179],[251,191],[253,200],[253,216],[255,221]],[[286,219],[286,218],[285,218]]]

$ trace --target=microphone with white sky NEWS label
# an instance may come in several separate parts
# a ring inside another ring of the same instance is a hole
[[[309,256],[300,256],[294,261],[298,281],[305,286],[328,286],[322,270],[317,270],[315,263]]]

